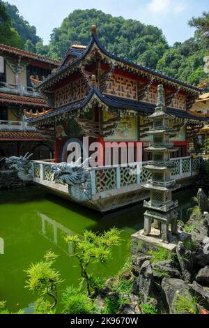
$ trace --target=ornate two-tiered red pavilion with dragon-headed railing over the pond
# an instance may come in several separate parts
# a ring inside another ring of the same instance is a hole
[[[146,131],[150,126],[148,117],[155,112],[159,84],[164,87],[167,114],[173,117],[170,131],[177,131],[170,135],[174,145],[171,161],[175,162],[171,177],[183,184],[191,182],[198,174],[199,158],[189,156],[187,140],[194,137],[194,132],[198,135],[208,118],[189,110],[203,89],[111,54],[100,43],[94,25],[88,45],[72,45],[59,68],[37,85],[36,90],[45,98],[49,110],[25,112],[30,126],[38,131],[53,128],[56,134],[54,164],[34,161],[33,181],[100,211],[144,200],[148,193],[141,183],[151,178],[151,172],[146,167],[141,170],[139,162],[150,160],[146,148],[153,136]],[[85,136],[87,146],[83,142]],[[163,133],[160,137],[164,141],[167,138]],[[84,169],[79,161],[75,163],[77,169],[66,164],[71,144],[82,147],[81,156],[87,163],[88,157],[93,156],[95,142],[99,152],[95,167]],[[127,144],[134,153],[134,164],[130,163],[129,152],[125,152]],[[116,147],[118,165],[114,165]],[[135,174],[130,174],[130,167],[121,165],[124,156]]]

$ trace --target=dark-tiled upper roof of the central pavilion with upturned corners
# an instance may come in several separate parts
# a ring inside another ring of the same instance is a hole
[[[118,57],[116,56],[115,54],[111,54],[109,51],[107,51],[105,48],[104,48],[104,45],[102,45],[100,43],[100,41],[98,40],[98,37],[95,33],[92,34],[91,36],[91,40],[90,40],[90,43],[88,44],[88,46],[86,47],[86,50],[82,51],[81,54],[78,55],[78,57],[76,57],[72,62],[70,62],[70,64],[65,64],[65,61],[66,61],[66,56],[64,57],[63,59],[63,62],[61,64],[61,66],[54,72],[52,73],[51,75],[49,75],[44,81],[40,82],[40,84],[38,84],[38,88],[42,88],[44,89],[44,86],[45,84],[47,84],[47,82],[49,82],[49,80],[52,80],[54,77],[56,77],[57,75],[59,75],[60,73],[63,73],[65,70],[68,70],[69,68],[72,68],[74,66],[76,66],[77,64],[79,64],[80,61],[82,61],[82,59],[84,59],[84,57],[86,57],[86,55],[88,54],[88,52],[90,52],[91,48],[93,47],[93,44],[96,44],[98,45],[98,48],[104,53],[107,55],[107,57],[111,58],[111,59],[114,59],[115,61],[119,61],[121,63],[124,63],[124,64],[128,64],[134,68],[139,68],[139,70],[143,71],[144,73],[148,73],[148,74],[151,74],[151,75],[155,75],[156,77],[161,77],[162,79],[164,80],[167,80],[167,82],[173,82],[173,83],[176,83],[176,84],[180,84],[182,87],[185,87],[185,88],[189,88],[189,89],[192,89],[193,91],[199,91],[200,93],[203,92],[204,89],[199,89],[198,87],[194,87],[190,84],[187,84],[185,82],[182,82],[174,77],[170,77],[170,76],[167,76],[167,75],[164,75],[160,72],[157,72],[156,70],[153,70],[151,68],[147,68],[145,66],[142,66],[140,64],[135,64],[133,63],[132,61],[128,60],[128,59],[124,59],[124,58],[121,58],[121,57]],[[68,52],[67,52],[67,55],[68,55]]]

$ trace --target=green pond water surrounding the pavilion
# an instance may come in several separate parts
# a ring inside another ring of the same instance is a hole
[[[173,194],[179,202],[179,216],[185,219],[196,190],[189,188]],[[106,266],[91,267],[96,276],[108,278],[116,274],[130,256],[130,236],[144,224],[142,204],[102,216],[59,197],[45,194],[36,187],[0,192],[0,301],[6,300],[11,311],[30,306],[38,295],[26,285],[26,270],[31,262],[42,259],[46,251],[59,255],[54,266],[65,279],[59,293],[67,285],[78,285],[77,259],[65,243],[66,234],[82,234],[87,230],[102,232],[116,226],[121,230],[121,246],[114,248]],[[4,249],[2,246],[4,243]]]

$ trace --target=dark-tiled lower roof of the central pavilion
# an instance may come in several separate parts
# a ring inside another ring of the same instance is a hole
[[[42,121],[45,119],[48,119],[50,117],[56,117],[58,115],[72,112],[74,110],[79,110],[82,107],[85,107],[88,102],[91,100],[93,96],[97,96],[98,99],[101,100],[102,103],[105,105],[121,109],[121,110],[132,110],[139,113],[145,113],[145,114],[152,114],[155,111],[156,105],[150,104],[150,103],[143,103],[138,100],[131,100],[127,98],[119,98],[116,96],[109,96],[107,94],[101,94],[100,91],[96,87],[92,87],[91,91],[89,92],[88,96],[82,100],[77,100],[74,103],[70,103],[68,105],[63,105],[56,110],[53,110],[49,114],[43,114],[41,117],[31,118],[27,119],[29,123]],[[175,117],[178,117],[180,119],[190,119],[190,120],[196,120],[196,121],[208,121],[209,119],[204,117],[196,117],[195,115],[189,114],[188,112],[184,110],[176,110],[175,108],[167,107],[167,113],[172,114]]]

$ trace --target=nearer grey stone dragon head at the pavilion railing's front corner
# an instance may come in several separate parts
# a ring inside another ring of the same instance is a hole
[[[59,163],[52,166],[54,172],[54,181],[62,181],[69,186],[69,194],[77,202],[86,202],[91,200],[91,175],[85,168],[89,158],[84,163],[81,159],[76,163]]]

